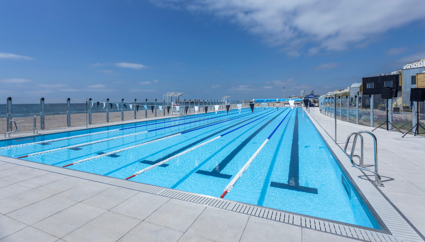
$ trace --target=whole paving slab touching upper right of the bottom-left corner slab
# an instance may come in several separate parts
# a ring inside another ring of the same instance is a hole
[[[62,238],[105,212],[107,211],[104,209],[77,203],[74,206],[33,224],[32,227],[57,236],[58,238]]]

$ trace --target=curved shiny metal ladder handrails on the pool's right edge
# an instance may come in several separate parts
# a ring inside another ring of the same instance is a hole
[[[363,136],[361,135],[363,133],[370,134],[373,137],[375,170],[367,169],[363,165]],[[348,142],[350,141],[350,138],[353,135],[354,135],[353,146],[351,147],[351,152],[348,154],[347,153]],[[357,137],[359,137],[359,136],[360,136],[360,156],[354,155],[354,149],[356,148]],[[375,183],[377,184],[377,186],[384,186],[384,185],[382,185],[381,177],[378,174],[378,146],[377,146],[377,139],[376,139],[376,136],[374,134],[372,134],[369,131],[359,131],[357,133],[351,133],[350,135],[348,135],[347,142],[346,142],[346,145],[344,147],[344,153],[346,154],[346,156],[348,156],[348,158],[350,158],[350,162],[354,167],[356,167],[360,170],[366,170],[368,172],[374,173],[375,174]],[[354,163],[353,157],[357,157],[359,159],[359,165]]]

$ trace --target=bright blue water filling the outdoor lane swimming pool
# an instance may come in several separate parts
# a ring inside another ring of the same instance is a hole
[[[116,130],[50,143],[1,149],[0,155],[26,156],[59,147],[150,131],[73,150],[63,149],[23,158],[62,167],[74,161],[97,156],[101,152],[108,153],[190,131],[125,150],[113,156],[103,156],[67,167],[116,178],[127,178],[139,170],[245,125],[131,178],[131,181],[219,197],[227,184],[282,120],[275,134],[225,198],[379,229],[380,226],[368,207],[301,108],[293,110],[255,108],[254,113],[249,108],[244,108],[240,114],[237,110],[229,111],[229,114],[220,111],[217,114],[197,114],[12,139],[1,142],[0,147]]]

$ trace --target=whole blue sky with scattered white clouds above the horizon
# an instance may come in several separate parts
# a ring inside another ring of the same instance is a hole
[[[424,1],[3,1],[0,102],[324,94],[425,58]]]

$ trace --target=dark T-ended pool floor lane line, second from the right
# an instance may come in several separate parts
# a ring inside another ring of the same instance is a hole
[[[238,145],[232,152],[229,153],[212,171],[205,171],[205,170],[198,170],[196,173],[202,174],[202,175],[210,175],[218,178],[225,178],[230,179],[232,178],[232,175],[227,175],[221,173],[221,171],[229,164],[230,161],[232,161],[233,158],[246,146],[248,143],[253,139],[260,131],[263,130],[270,122],[275,120],[280,114],[283,114],[283,112],[280,112],[278,115],[273,117],[271,120],[267,121],[263,126],[258,128],[254,133],[252,133],[248,138],[246,138],[241,144]]]

